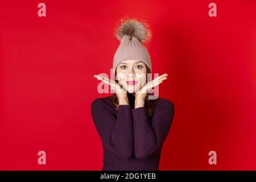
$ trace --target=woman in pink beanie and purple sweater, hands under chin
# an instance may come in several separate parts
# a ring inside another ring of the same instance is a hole
[[[94,125],[102,140],[102,170],[158,170],[160,153],[167,137],[174,105],[152,96],[151,89],[167,79],[163,74],[152,81],[151,59],[142,43],[150,40],[146,23],[121,19],[115,38],[121,43],[115,52],[115,80],[94,75],[110,85],[110,97],[96,98],[91,105]]]

